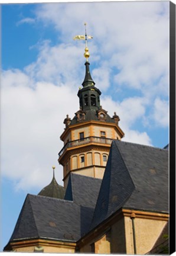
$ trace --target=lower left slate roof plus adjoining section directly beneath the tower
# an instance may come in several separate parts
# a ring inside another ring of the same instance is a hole
[[[101,182],[71,174],[66,200],[28,194],[10,241],[47,238],[76,242],[89,229]]]

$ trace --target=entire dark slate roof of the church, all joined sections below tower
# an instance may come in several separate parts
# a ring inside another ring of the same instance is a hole
[[[121,208],[168,213],[168,150],[113,140],[103,180],[71,174],[62,199],[28,194],[11,241],[78,241]]]

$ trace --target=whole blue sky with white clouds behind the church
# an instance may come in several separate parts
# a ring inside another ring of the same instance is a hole
[[[1,249],[27,193],[52,178],[66,114],[79,110],[87,22],[90,70],[123,141],[164,148],[169,117],[169,2],[2,5]]]

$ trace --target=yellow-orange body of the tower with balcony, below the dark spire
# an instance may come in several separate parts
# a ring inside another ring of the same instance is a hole
[[[70,172],[102,179],[112,140],[123,135],[116,123],[90,120],[67,126],[61,135],[64,148],[58,158],[63,165],[64,186]]]

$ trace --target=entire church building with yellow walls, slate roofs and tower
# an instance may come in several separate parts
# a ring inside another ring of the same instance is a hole
[[[80,108],[66,116],[54,177],[28,194],[4,251],[159,254],[168,248],[168,149],[123,142],[119,116],[107,114],[100,90],[86,74]]]

